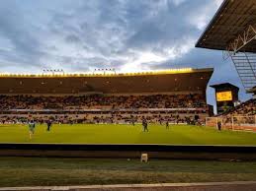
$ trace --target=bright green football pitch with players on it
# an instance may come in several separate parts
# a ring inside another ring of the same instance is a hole
[[[188,125],[58,125],[50,132],[37,125],[32,140],[27,125],[1,125],[0,143],[84,143],[84,144],[177,144],[177,145],[256,145],[256,134],[216,131],[213,128]]]

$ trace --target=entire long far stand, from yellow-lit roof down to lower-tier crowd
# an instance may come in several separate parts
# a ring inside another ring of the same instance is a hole
[[[184,69],[111,76],[0,75],[0,122],[136,123],[145,117],[154,123],[195,118],[203,123],[212,74],[213,69]]]

